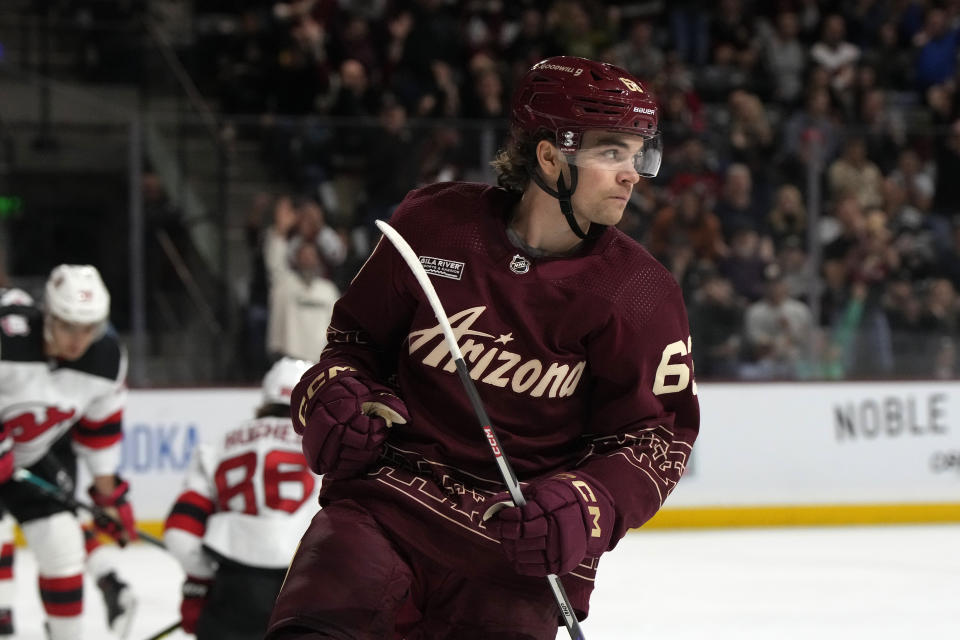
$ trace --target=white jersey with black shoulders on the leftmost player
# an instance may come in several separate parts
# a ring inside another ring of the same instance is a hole
[[[120,463],[127,354],[112,331],[75,361],[44,352],[43,313],[8,292],[0,306],[0,454],[17,467],[40,460],[72,430],[74,449],[93,475]]]

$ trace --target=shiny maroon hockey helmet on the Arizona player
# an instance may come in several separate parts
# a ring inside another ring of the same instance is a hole
[[[649,141],[637,172],[653,177],[660,169],[657,102],[625,69],[573,56],[533,65],[513,95],[512,125],[536,135],[548,131],[567,156],[580,148],[588,129],[608,129]]]

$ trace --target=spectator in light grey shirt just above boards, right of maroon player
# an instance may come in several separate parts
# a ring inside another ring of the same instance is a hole
[[[744,316],[747,356],[740,372],[750,380],[795,378],[809,358],[813,316],[806,304],[790,297],[776,265],[766,269],[764,279],[763,297]]]

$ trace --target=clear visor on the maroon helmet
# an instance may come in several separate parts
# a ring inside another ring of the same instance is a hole
[[[567,162],[584,169],[635,171],[643,178],[653,178],[660,171],[663,147],[659,133],[648,138],[613,131],[590,131],[579,149],[564,149],[563,154]]]

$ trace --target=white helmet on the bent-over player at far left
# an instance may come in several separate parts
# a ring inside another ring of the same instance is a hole
[[[71,324],[106,322],[110,292],[89,264],[61,264],[50,272],[44,291],[47,313]]]

